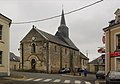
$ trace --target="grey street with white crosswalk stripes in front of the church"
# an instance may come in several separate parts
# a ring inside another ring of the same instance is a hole
[[[45,74],[29,72],[11,72],[11,74],[24,75],[24,78],[12,78],[0,84],[104,84],[97,83],[95,75],[73,76],[67,74]]]

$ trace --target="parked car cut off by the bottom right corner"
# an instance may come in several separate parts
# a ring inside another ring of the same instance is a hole
[[[106,84],[120,84],[120,72],[108,72],[106,75]]]

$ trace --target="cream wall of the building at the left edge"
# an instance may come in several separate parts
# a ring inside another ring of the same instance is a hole
[[[2,28],[2,40],[0,40],[0,51],[2,51],[2,64],[0,64],[0,76],[9,76],[9,23],[10,21],[0,15]]]

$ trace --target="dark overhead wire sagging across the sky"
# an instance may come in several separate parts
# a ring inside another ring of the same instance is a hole
[[[79,8],[79,9],[69,11],[69,12],[65,13],[64,15],[71,14],[71,13],[73,13],[73,12],[82,10],[82,9],[84,9],[84,8],[88,8],[88,7],[93,6],[93,5],[97,4],[97,3],[100,3],[100,2],[102,2],[102,1],[103,1],[103,0],[96,1],[96,2],[94,2],[94,3],[92,3],[92,4],[86,5],[86,6],[84,6],[84,7]],[[39,19],[39,20],[25,21],[25,22],[13,22],[12,24],[28,24],[28,23],[35,23],[35,22],[40,22],[40,21],[45,21],[45,20],[54,19],[54,18],[57,18],[57,17],[60,17],[60,16],[61,16],[61,15],[55,15],[55,16],[52,16],[52,17],[48,17],[48,18],[44,18],[44,19]]]

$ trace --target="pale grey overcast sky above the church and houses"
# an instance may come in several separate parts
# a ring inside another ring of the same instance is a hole
[[[79,9],[100,0],[0,0],[0,13],[12,19],[12,23],[33,21],[60,15]],[[120,8],[120,0],[103,0],[91,7],[65,15],[69,37],[79,50],[91,60],[99,57],[99,47],[104,35],[103,28],[115,18],[114,12]],[[10,51],[20,56],[20,41],[35,25],[38,29],[55,35],[60,25],[60,17],[29,24],[11,24]]]

